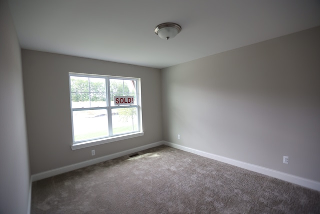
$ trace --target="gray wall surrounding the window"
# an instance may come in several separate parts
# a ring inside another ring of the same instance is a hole
[[[22,67],[31,174],[162,140],[159,69],[30,50]],[[141,78],[144,135],[72,151],[68,72]]]

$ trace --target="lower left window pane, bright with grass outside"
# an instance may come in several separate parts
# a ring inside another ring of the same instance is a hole
[[[74,141],[101,138],[109,135],[106,109],[73,111]]]

